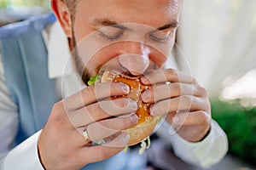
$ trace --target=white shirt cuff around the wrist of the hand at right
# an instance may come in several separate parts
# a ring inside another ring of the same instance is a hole
[[[226,134],[213,120],[211,131],[205,139],[200,142],[189,142],[175,133],[172,136],[172,145],[177,156],[204,168],[212,167],[225,156],[228,150]]]

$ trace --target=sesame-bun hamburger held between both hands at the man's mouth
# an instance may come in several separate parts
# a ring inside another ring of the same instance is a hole
[[[117,74],[113,71],[102,71],[102,75],[99,77],[99,82],[123,82],[130,87],[130,93],[124,96],[116,96],[117,98],[130,98],[137,102],[137,125],[123,130],[125,133],[130,134],[130,141],[127,145],[131,146],[142,142],[142,148],[146,147],[145,141],[148,139],[148,147],[150,144],[149,135],[153,132],[155,125],[158,122],[159,116],[150,116],[149,106],[150,103],[144,103],[141,99],[141,94],[151,86],[146,86],[140,82],[140,76],[129,77],[125,74]],[[147,148],[148,148],[147,147]]]

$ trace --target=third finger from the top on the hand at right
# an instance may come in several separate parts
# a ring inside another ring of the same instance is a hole
[[[150,106],[150,115],[158,116],[176,111],[208,111],[206,99],[191,95],[182,95],[177,98],[165,99]]]

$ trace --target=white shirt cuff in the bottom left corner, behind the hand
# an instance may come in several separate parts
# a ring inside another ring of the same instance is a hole
[[[9,151],[9,154],[3,161],[3,170],[20,169],[20,170],[44,170],[38,157],[38,136],[41,133],[33,134],[15,149]]]

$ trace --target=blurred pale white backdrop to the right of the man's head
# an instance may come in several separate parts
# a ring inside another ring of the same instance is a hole
[[[256,98],[256,1],[183,1],[177,60],[212,98]],[[181,52],[181,53],[180,53]]]

